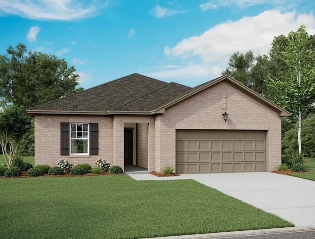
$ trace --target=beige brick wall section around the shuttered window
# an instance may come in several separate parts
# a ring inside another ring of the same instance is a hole
[[[98,155],[73,157],[60,155],[60,123],[98,123]],[[94,162],[98,158],[113,163],[113,117],[35,116],[35,164],[56,166],[60,159],[76,164]]]

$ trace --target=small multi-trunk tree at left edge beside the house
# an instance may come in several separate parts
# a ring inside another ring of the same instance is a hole
[[[10,168],[19,143],[31,124],[24,107],[9,105],[0,112],[0,145],[6,165]]]

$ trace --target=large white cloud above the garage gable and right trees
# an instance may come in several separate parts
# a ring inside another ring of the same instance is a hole
[[[309,34],[315,34],[313,13],[268,10],[235,22],[227,21],[200,35],[183,39],[174,47],[165,46],[164,53],[169,60],[189,59],[189,63],[183,63],[179,68],[164,68],[148,74],[159,79],[201,76],[214,79],[227,67],[228,59],[233,53],[252,50],[254,55],[268,54],[275,36],[287,35],[290,31],[298,30],[302,24],[307,26]]]

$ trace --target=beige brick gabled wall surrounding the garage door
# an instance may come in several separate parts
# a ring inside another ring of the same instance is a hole
[[[221,91],[226,91],[226,109],[221,109]],[[226,111],[228,120],[223,120]],[[281,117],[247,94],[221,82],[165,110],[156,121],[156,169],[175,167],[176,129],[267,130],[267,169],[281,163]]]

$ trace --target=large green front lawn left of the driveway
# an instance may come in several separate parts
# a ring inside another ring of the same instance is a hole
[[[6,238],[145,238],[292,227],[194,180],[0,179]]]

